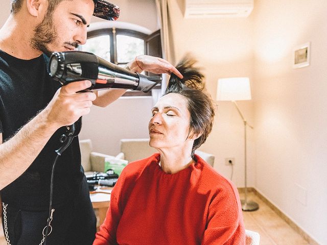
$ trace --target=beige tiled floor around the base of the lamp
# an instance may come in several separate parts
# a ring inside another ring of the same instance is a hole
[[[253,212],[243,212],[245,228],[260,234],[260,245],[309,244],[271,208],[256,197],[253,192],[250,192],[248,197],[248,200],[258,203],[260,208]],[[6,240],[1,227],[0,245],[6,245]]]

